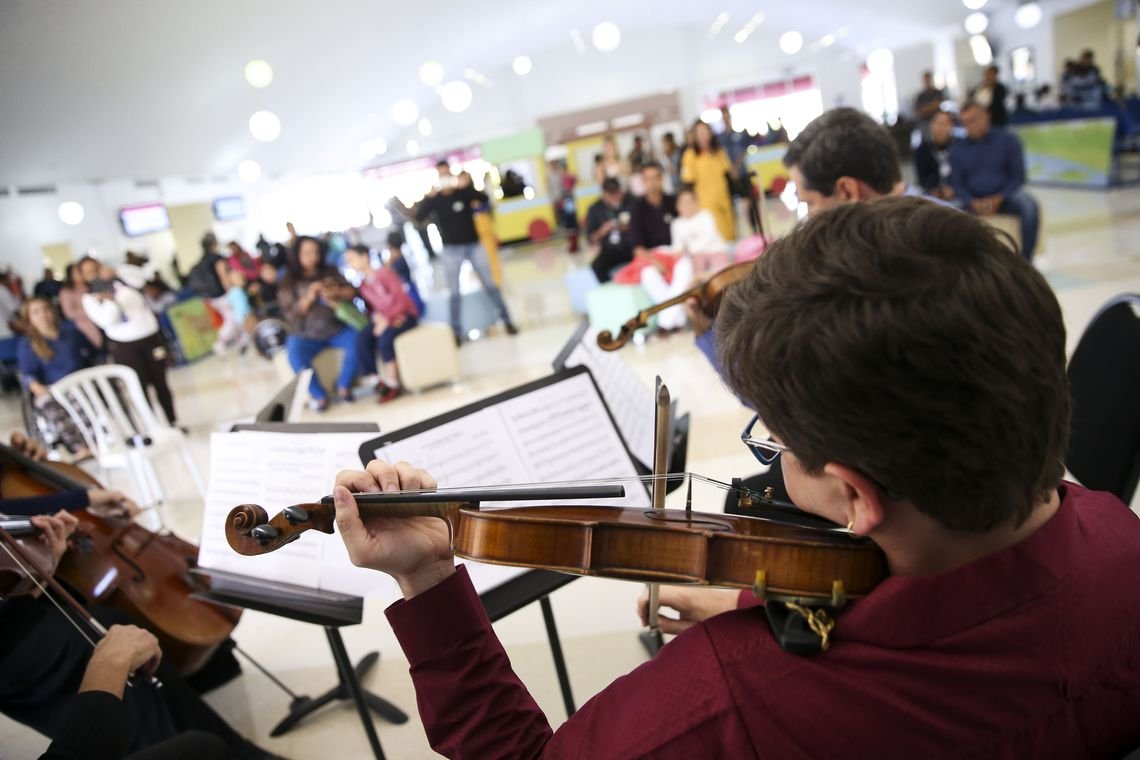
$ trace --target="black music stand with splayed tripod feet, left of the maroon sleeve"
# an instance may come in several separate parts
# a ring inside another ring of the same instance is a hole
[[[264,612],[279,618],[312,623],[325,629],[325,636],[328,638],[328,647],[332,649],[333,661],[336,663],[339,683],[317,697],[293,693],[272,673],[262,668],[256,661],[250,659],[250,662],[254,667],[292,698],[288,714],[269,732],[270,736],[282,736],[288,733],[307,716],[331,702],[352,700],[356,704],[357,714],[360,716],[360,722],[364,726],[365,735],[368,737],[368,744],[372,746],[373,754],[377,760],[384,759],[384,751],[380,746],[380,737],[376,736],[376,727],[373,725],[369,709],[392,724],[405,724],[408,720],[408,716],[391,702],[360,686],[360,679],[380,660],[380,653],[369,652],[353,667],[349,660],[348,651],[344,648],[344,640],[341,638],[340,629],[342,626],[357,626],[360,623],[364,611],[363,598],[329,591],[317,591],[290,583],[259,581],[218,571],[195,570],[192,572],[198,573],[210,581],[210,590],[192,595],[195,598],[214,604],[256,610],[258,612]],[[241,652],[241,649],[238,651]]]

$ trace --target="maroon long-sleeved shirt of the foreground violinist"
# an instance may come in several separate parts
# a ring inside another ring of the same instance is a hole
[[[891,577],[831,649],[764,612],[695,626],[552,734],[466,572],[388,610],[432,747],[453,758],[1098,758],[1140,745],[1140,520],[1065,484],[1036,533]]]

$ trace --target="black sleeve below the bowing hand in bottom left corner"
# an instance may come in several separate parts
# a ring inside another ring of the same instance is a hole
[[[63,725],[40,760],[117,760],[135,741],[135,722],[123,701],[107,692],[76,694]]]

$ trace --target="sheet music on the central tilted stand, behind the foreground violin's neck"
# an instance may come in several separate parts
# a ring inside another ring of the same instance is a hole
[[[388,463],[415,463],[432,473],[440,488],[637,476],[586,374],[393,441],[374,455]],[[650,499],[632,482],[626,483],[625,498],[595,504],[648,508]],[[463,562],[480,593],[526,572]]]

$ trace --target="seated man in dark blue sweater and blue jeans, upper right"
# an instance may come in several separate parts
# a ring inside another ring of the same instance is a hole
[[[1021,220],[1021,255],[1033,259],[1041,227],[1037,202],[1025,190],[1025,155],[1012,132],[991,126],[990,113],[975,103],[962,106],[967,138],[954,145],[950,163],[954,195],[982,216],[1012,214]]]

